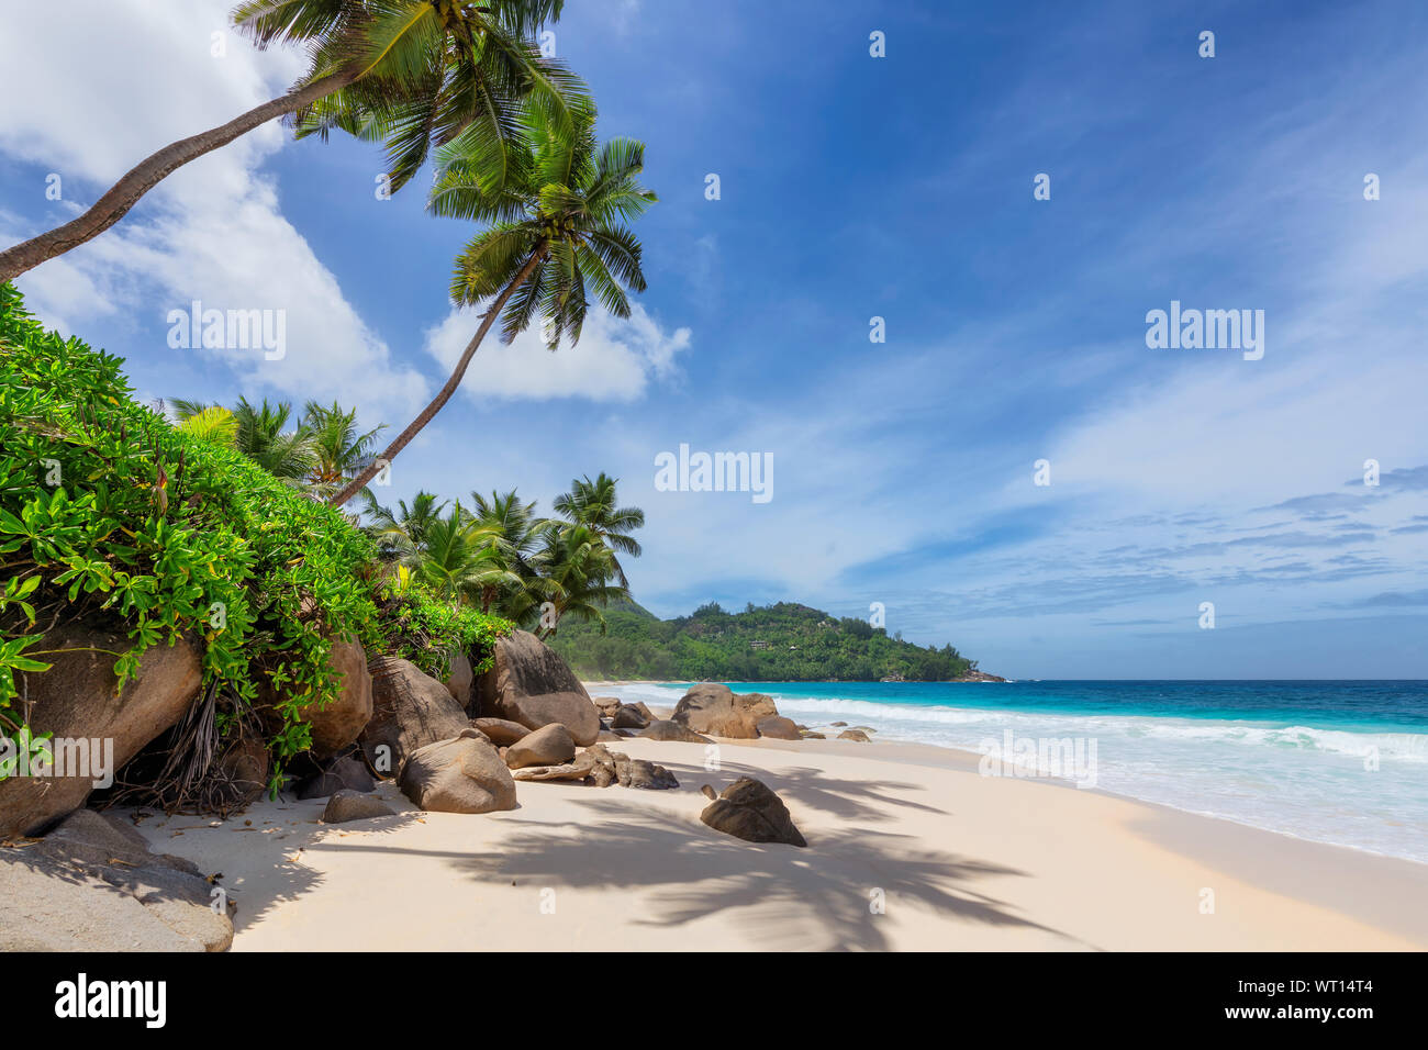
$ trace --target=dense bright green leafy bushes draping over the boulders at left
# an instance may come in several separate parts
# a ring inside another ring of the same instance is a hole
[[[391,580],[346,516],[136,403],[120,364],[0,286],[0,731],[23,731],[16,674],[49,670],[57,626],[123,629],[120,687],[146,649],[188,639],[217,726],[251,713],[260,676],[278,687],[276,784],[310,743],[298,711],[336,696],[333,640],[440,671],[508,629]]]

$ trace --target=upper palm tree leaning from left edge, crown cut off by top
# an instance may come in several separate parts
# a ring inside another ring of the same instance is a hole
[[[531,34],[560,17],[564,0],[246,0],[238,31],[260,49],[296,43],[311,66],[284,96],[227,124],[170,143],[114,183],[84,214],[0,251],[0,284],[111,227],[170,173],[284,117],[298,137],[340,129],[383,140],[397,190],[433,146],[461,143],[503,166],[523,101],[553,120],[584,97],[580,81],[545,59]]]

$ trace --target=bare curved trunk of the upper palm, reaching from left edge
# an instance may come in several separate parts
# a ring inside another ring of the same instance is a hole
[[[247,134],[254,127],[266,124],[274,117],[296,113],[313,104],[318,99],[346,87],[356,77],[356,73],[333,73],[320,77],[304,87],[288,91],[280,99],[273,99],[248,110],[227,124],[164,146],[159,153],[140,161],[139,166],[124,174],[123,179],[109,189],[109,193],[94,201],[93,207],[79,219],[0,251],[0,284],[14,280],[26,270],[33,270],[40,263],[56,256],[63,256],[70,249],[76,249],[104,233],[104,230],[123,219],[129,213],[129,209],[139,203],[140,197],[188,161],[197,160],[206,153],[213,153],[220,146],[227,146],[238,136]]]

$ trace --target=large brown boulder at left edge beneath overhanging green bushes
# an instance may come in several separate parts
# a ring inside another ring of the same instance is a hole
[[[37,834],[83,806],[188,710],[203,681],[197,649],[180,641],[144,650],[139,677],[116,696],[113,653],[130,647],[124,634],[81,626],[44,636],[39,649],[50,670],[20,674],[16,684],[29,696],[30,729],[53,734],[56,764],[0,780],[0,839]]]

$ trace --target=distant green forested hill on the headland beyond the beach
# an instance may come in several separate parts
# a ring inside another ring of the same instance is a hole
[[[793,603],[718,604],[660,620],[634,601],[605,610],[600,624],[567,621],[548,639],[571,667],[590,677],[658,681],[950,681],[977,670],[952,646],[890,639],[865,620],[835,619]]]

